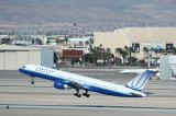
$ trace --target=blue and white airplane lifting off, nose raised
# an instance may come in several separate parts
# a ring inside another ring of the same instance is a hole
[[[147,95],[143,93],[142,90],[153,73],[152,70],[146,70],[131,80],[128,84],[119,85],[36,65],[25,65],[19,68],[19,71],[32,78],[31,84],[34,84],[34,78],[37,77],[54,81],[54,88],[56,89],[75,89],[75,96],[77,97],[81,97],[79,90],[86,91],[82,94],[86,97],[90,96],[88,94],[89,91],[113,96],[145,97]]]

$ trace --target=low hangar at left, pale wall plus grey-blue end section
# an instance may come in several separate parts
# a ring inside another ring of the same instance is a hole
[[[0,45],[0,70],[18,70],[24,65],[53,67],[53,49]]]

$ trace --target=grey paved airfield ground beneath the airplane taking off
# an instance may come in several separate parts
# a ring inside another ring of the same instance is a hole
[[[136,77],[119,74],[119,69],[64,70],[122,85]],[[118,97],[89,92],[90,97],[79,98],[74,96],[75,90],[57,90],[53,84],[53,81],[40,78],[31,84],[29,76],[0,71],[0,116],[176,115],[176,80],[150,80],[143,91],[147,97]]]

